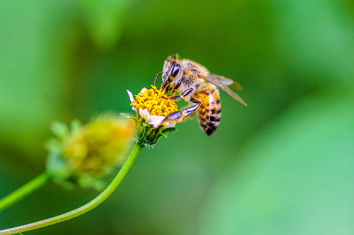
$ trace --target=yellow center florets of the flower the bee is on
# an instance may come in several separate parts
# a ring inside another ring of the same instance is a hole
[[[151,86],[152,89],[145,89],[144,92],[135,96],[135,101],[131,102],[131,106],[136,110],[147,110],[151,115],[156,116],[168,116],[172,112],[176,112],[177,104],[175,101],[171,101],[169,96],[166,95],[164,89],[156,89]]]

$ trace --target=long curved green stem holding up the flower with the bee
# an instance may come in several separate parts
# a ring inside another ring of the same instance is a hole
[[[22,225],[19,227],[13,227],[10,229],[3,229],[0,231],[0,234],[18,234],[19,232],[26,232],[30,231],[33,229],[39,229],[40,227],[46,227],[49,225],[54,225],[56,223],[61,223],[66,220],[70,220],[72,218],[75,218],[77,216],[81,216],[82,214],[85,214],[86,212],[94,209],[97,207],[99,204],[104,202],[109,195],[115,191],[115,189],[118,187],[120,182],[122,182],[123,178],[125,175],[127,175],[127,172],[129,171],[129,168],[131,165],[134,163],[136,157],[140,153],[140,150],[143,148],[143,146],[140,146],[139,144],[136,144],[131,150],[131,153],[127,159],[127,161],[124,163],[122,168],[120,169],[118,175],[115,176],[111,184],[109,184],[106,189],[102,193],[100,193],[95,199],[91,200],[87,204],[84,204],[82,207],[79,207],[77,209],[74,209],[72,211],[69,211],[65,214],[62,214],[60,216],[55,216],[46,220],[41,220],[35,223],[31,223],[28,225]]]

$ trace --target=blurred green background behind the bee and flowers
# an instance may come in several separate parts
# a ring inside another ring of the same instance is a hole
[[[300,1],[0,3],[0,198],[45,171],[54,120],[131,112],[168,55],[240,82],[207,137],[196,118],[140,153],[104,204],[26,234],[354,234],[354,4]],[[96,191],[51,182],[0,229]]]

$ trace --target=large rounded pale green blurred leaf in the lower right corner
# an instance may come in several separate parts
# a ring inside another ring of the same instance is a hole
[[[351,107],[315,96],[279,115],[218,178],[201,234],[353,234]]]

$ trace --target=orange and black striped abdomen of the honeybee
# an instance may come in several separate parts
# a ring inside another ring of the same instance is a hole
[[[208,136],[213,134],[218,128],[221,116],[221,105],[219,91],[214,85],[208,85],[198,91],[198,120],[200,127]]]

